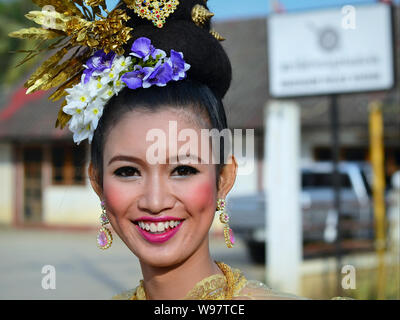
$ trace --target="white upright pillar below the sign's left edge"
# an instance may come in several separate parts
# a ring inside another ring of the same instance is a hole
[[[265,111],[267,283],[300,294],[300,107],[293,101],[273,101]]]

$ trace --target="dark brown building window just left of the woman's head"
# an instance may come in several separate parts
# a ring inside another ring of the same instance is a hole
[[[53,184],[85,184],[86,148],[83,145],[53,146],[51,157]]]

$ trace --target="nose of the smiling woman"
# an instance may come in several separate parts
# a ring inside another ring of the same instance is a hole
[[[155,172],[144,181],[143,193],[139,199],[138,207],[150,214],[159,214],[172,209],[175,203],[174,199],[167,178]]]

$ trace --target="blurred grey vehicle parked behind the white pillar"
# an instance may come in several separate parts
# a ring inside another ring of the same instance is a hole
[[[341,239],[373,239],[371,197],[372,170],[368,164],[341,162]],[[301,210],[303,244],[332,243],[337,237],[330,162],[314,162],[301,167]],[[265,194],[233,196],[227,201],[229,225],[248,246],[251,258],[265,261]]]

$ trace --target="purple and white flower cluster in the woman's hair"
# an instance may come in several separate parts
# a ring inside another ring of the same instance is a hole
[[[67,104],[63,112],[71,116],[68,125],[74,133],[75,143],[85,139],[91,143],[104,105],[124,87],[163,87],[169,81],[184,79],[190,68],[183,60],[182,52],[171,50],[167,57],[145,37],[133,43],[129,55],[124,57],[112,51],[108,54],[103,50],[97,51],[84,65],[81,82],[66,89]]]

